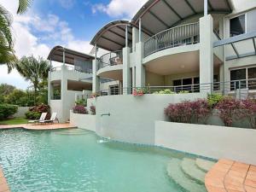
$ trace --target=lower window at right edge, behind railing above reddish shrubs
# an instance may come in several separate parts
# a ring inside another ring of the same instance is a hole
[[[256,89],[256,67],[235,69],[230,71],[230,90]]]

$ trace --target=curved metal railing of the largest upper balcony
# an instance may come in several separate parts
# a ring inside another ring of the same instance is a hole
[[[145,57],[162,49],[199,43],[199,27],[199,22],[189,23],[155,34],[144,44]]]

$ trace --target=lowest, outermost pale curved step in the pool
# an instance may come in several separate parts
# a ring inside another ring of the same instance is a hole
[[[194,180],[187,177],[181,168],[182,160],[172,159],[167,166],[169,177],[183,189],[189,192],[206,192],[203,184],[196,183]]]

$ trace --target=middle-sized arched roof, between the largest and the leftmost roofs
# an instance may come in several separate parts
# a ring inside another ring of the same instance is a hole
[[[127,25],[131,25],[128,20],[114,20],[108,23],[96,33],[90,44],[97,44],[97,47],[110,51],[123,49],[125,47],[125,27]],[[128,27],[128,39],[129,41],[132,39],[131,27]]]

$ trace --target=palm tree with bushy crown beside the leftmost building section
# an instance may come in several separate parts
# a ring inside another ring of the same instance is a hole
[[[49,61],[42,57],[36,59],[33,55],[23,56],[15,65],[17,71],[26,81],[30,81],[34,90],[34,104],[37,103],[38,89],[40,83],[48,78]]]

